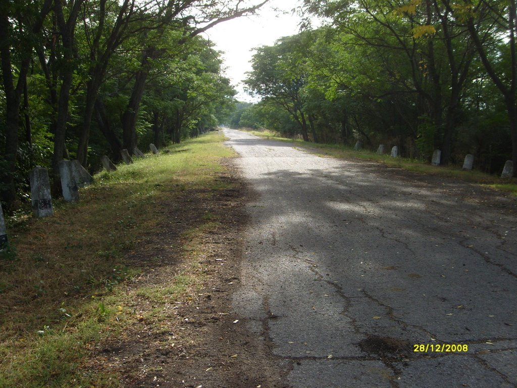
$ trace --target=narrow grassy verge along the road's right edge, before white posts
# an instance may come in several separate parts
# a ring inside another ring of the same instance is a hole
[[[249,131],[253,135],[260,136],[268,140],[290,142],[302,150],[334,158],[342,159],[363,159],[384,163],[387,166],[401,168],[421,174],[446,176],[464,182],[476,183],[491,187],[496,190],[508,191],[517,196],[517,178],[501,179],[495,175],[489,175],[481,171],[464,171],[459,166],[432,166],[422,160],[392,158],[390,155],[378,155],[375,152],[360,150],[356,151],[352,147],[344,147],[337,144],[307,143],[300,139],[288,139],[281,137],[277,132],[270,130]]]

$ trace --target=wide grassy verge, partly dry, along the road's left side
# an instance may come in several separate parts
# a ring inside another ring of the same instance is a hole
[[[138,280],[163,262],[161,244],[171,244],[171,236],[156,237],[171,224],[169,208],[181,214],[176,201],[227,188],[220,158],[233,154],[223,140],[210,133],[99,173],[78,204],[55,202],[53,217],[10,219],[10,248],[0,253],[0,386],[121,386],[116,373],[93,372],[89,354],[138,322],[159,326],[159,303],[202,287],[196,235],[217,226],[210,213],[175,225],[178,265],[166,284]]]

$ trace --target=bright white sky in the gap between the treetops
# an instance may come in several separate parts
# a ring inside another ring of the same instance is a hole
[[[246,78],[246,71],[251,71],[249,61],[253,48],[272,46],[277,39],[299,32],[300,18],[291,10],[301,5],[301,1],[270,0],[257,15],[223,22],[206,32],[205,35],[216,43],[216,48],[225,52],[226,77],[237,89],[237,100],[252,101],[244,92],[241,81]]]

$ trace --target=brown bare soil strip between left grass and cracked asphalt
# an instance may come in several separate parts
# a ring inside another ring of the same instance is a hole
[[[235,322],[240,318],[231,301],[240,282],[244,206],[251,193],[231,162],[225,166],[218,180],[230,188],[186,190],[161,203],[158,210],[167,214],[161,233],[144,237],[128,258],[128,265],[144,268],[127,284],[128,294],[147,286],[166,288],[194,264],[202,289],[166,304],[131,297],[135,322],[117,338],[95,346],[90,370],[117,372],[123,376],[121,385],[130,388],[286,386],[285,372],[264,340]],[[181,235],[206,221],[207,214],[217,219],[216,228]],[[185,255],[185,244],[195,246],[192,254]]]

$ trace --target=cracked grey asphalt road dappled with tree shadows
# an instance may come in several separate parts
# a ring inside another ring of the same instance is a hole
[[[233,307],[289,385],[517,386],[514,199],[224,133],[258,194]]]

